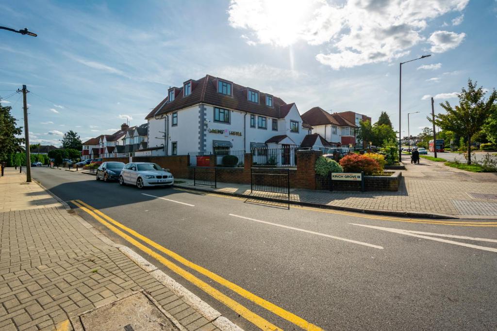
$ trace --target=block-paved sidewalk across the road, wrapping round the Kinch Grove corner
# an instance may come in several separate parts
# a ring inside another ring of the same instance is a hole
[[[358,212],[437,218],[497,219],[497,174],[472,173],[446,167],[440,162],[421,159],[402,171],[403,183],[398,192],[329,192],[290,190],[290,200],[321,207],[341,208]],[[180,183],[183,182],[183,183]],[[268,193],[251,194],[250,185],[217,183],[193,186],[193,180],[178,179],[176,187],[237,195],[246,198],[278,199]],[[280,195],[281,198],[286,199]]]

